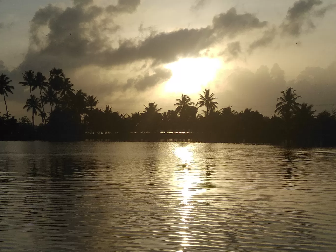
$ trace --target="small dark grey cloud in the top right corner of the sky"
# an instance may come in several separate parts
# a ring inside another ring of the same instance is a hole
[[[315,29],[313,17],[323,17],[327,10],[333,5],[316,9],[322,5],[321,0],[299,0],[296,1],[287,11],[287,16],[280,25],[282,34],[290,36],[299,36],[303,32]]]

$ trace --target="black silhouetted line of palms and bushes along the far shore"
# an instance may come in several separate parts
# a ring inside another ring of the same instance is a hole
[[[193,141],[229,143],[270,143],[287,146],[335,146],[336,114],[324,111],[315,115],[312,105],[298,103],[295,90],[281,91],[275,114],[264,117],[246,108],[237,112],[228,106],[218,109],[214,93],[205,89],[195,104],[188,95],[176,99],[175,110],[162,112],[155,102],[131,115],[106,108],[96,108],[93,95],[74,90],[61,69],[52,69],[49,78],[33,71],[23,73],[22,86],[30,97],[24,109],[31,120],[18,121],[9,114],[6,97],[14,86],[6,75],[0,76],[6,114],[0,117],[0,140],[80,141],[86,138],[110,140],[159,140],[160,138],[191,138]],[[35,94],[34,94],[35,92]],[[203,108],[202,114],[200,109]],[[35,126],[35,116],[42,119]],[[180,136],[180,137],[178,137]]]

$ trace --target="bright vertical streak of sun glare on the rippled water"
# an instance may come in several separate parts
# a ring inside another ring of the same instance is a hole
[[[179,213],[181,220],[179,226],[186,231],[191,228],[191,223],[196,224],[197,220],[195,216],[193,216],[194,206],[192,204],[192,197],[196,194],[200,194],[206,192],[205,188],[200,188],[203,184],[203,180],[201,178],[202,172],[193,165],[194,161],[194,153],[192,151],[192,146],[185,146],[176,148],[174,154],[178,157],[182,163],[182,167],[185,169],[176,171],[176,180],[178,182],[178,192],[180,194],[180,206]],[[180,246],[183,249],[186,247],[192,246],[190,242],[190,238],[192,237],[192,231],[178,232],[180,238],[179,241]],[[178,252],[183,252],[183,249],[178,250]]]

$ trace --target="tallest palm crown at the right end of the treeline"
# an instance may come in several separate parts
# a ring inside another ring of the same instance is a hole
[[[301,98],[301,96],[297,95],[295,92],[296,90],[289,87],[286,92],[281,91],[282,96],[277,99],[279,102],[276,105],[274,113],[278,113],[278,115],[280,114],[285,121],[288,121],[293,113],[300,108],[301,104],[297,103],[296,100]]]

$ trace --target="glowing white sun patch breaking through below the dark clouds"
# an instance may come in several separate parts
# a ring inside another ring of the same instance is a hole
[[[172,71],[172,77],[166,82],[164,90],[169,93],[198,93],[214,80],[221,67],[219,58],[179,59],[165,66]]]

